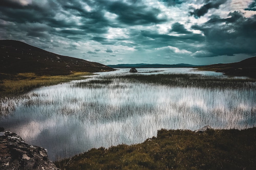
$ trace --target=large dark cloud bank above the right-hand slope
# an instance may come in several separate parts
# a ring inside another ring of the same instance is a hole
[[[206,23],[192,27],[204,33],[206,41],[204,50],[209,52],[207,57],[256,53],[256,15],[245,18],[240,12],[234,11],[230,12],[229,16],[229,18],[213,16]],[[221,24],[223,22],[225,24]]]

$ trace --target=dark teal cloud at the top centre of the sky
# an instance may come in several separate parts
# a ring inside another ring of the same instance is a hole
[[[165,19],[158,19],[157,15],[161,12],[156,8],[147,8],[141,4],[126,4],[120,1],[115,1],[106,4],[106,10],[118,15],[118,20],[127,25],[141,25],[161,23]]]

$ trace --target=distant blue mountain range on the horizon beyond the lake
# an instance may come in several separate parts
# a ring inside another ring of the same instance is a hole
[[[199,66],[205,66],[205,65],[191,65],[191,64],[116,64],[116,65],[107,65],[111,68],[177,68],[177,67],[199,67]]]

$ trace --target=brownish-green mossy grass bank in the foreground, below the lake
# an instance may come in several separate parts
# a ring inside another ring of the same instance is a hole
[[[256,128],[245,130],[158,130],[136,145],[103,147],[55,162],[80,169],[254,169]]]

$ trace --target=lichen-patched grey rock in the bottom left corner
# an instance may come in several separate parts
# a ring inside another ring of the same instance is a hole
[[[58,169],[47,156],[47,150],[28,145],[19,135],[0,132],[0,169]]]

